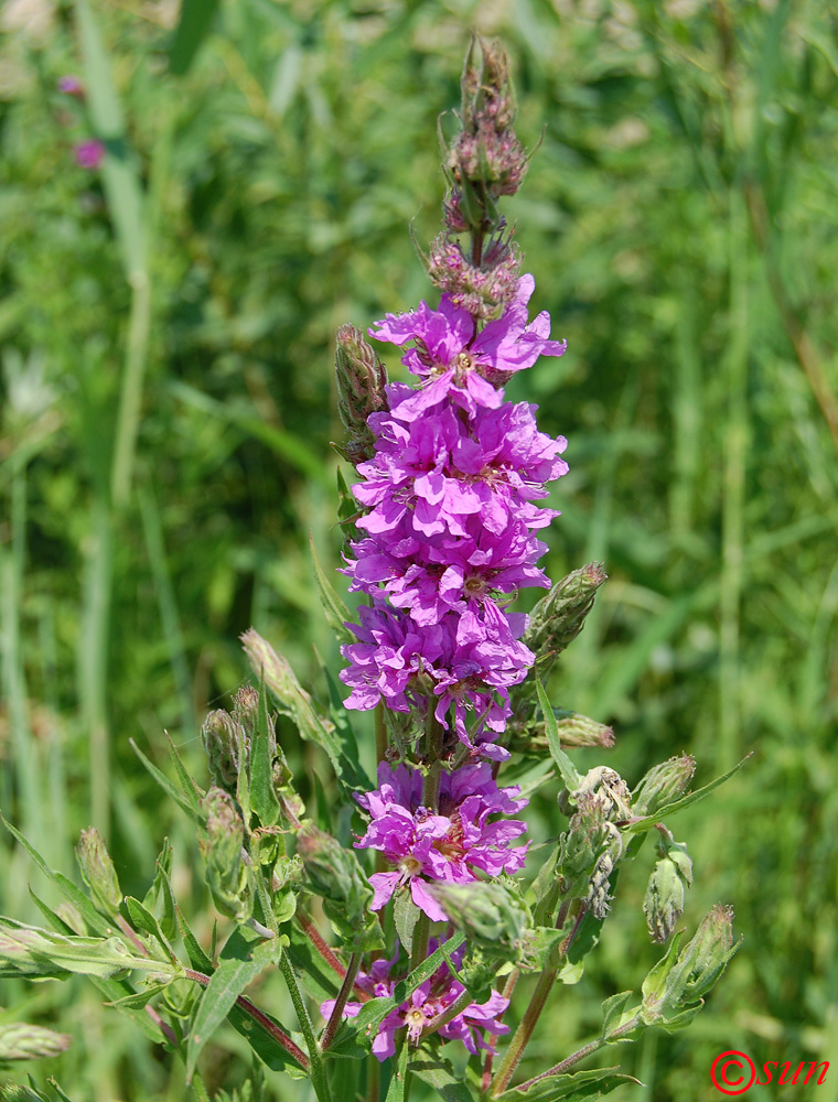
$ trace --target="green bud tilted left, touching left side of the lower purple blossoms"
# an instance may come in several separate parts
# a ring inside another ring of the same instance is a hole
[[[313,825],[297,835],[310,887],[323,899],[323,909],[339,934],[353,951],[365,952],[383,944],[378,919],[369,910],[373,885],[354,850]]]

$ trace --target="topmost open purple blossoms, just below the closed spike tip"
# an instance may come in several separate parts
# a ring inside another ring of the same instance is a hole
[[[410,314],[387,314],[370,328],[372,336],[395,345],[413,342],[401,363],[419,375],[423,388],[402,404],[411,420],[447,396],[470,414],[476,407],[496,408],[509,375],[531,367],[539,356],[561,356],[567,342],[550,341],[550,315],[542,311],[528,323],[527,303],[535,290],[531,276],[518,280],[515,298],[496,321],[476,332],[468,310],[443,295],[439,310],[425,302]]]

